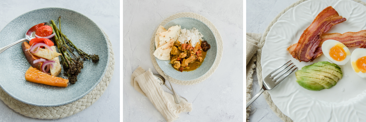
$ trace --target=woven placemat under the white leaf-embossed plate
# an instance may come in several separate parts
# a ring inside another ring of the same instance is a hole
[[[267,26],[265,32],[263,33],[262,37],[261,37],[261,40],[259,41],[259,49],[257,51],[257,77],[258,77],[258,83],[259,84],[263,84],[262,81],[263,81],[263,78],[262,78],[262,66],[261,66],[261,56],[262,56],[262,48],[263,48],[263,45],[264,45],[264,42],[266,41],[266,36],[269,32],[269,30],[271,29],[272,25],[275,24],[277,22],[277,20],[280,18],[281,15],[283,15],[286,11],[288,11],[290,8],[292,7],[295,7],[296,5],[302,3],[302,2],[305,2],[305,1],[308,1],[308,0],[299,0],[299,1],[296,1],[294,4],[288,6],[287,8],[285,8],[283,11],[280,12],[280,14],[278,14],[275,19],[273,19],[272,22],[269,23],[269,25]],[[355,1],[357,3],[360,3],[362,5],[365,5],[366,6],[366,3],[365,2],[362,2],[360,0],[352,0],[352,1]],[[287,117],[286,115],[284,115],[281,110],[279,110],[277,108],[277,106],[275,105],[275,103],[273,103],[272,101],[272,98],[271,96],[269,95],[269,93],[267,91],[264,91],[262,93],[262,95],[264,96],[264,98],[266,99],[269,107],[273,110],[273,112],[275,112],[275,114],[281,118],[283,121],[285,122],[292,122],[292,119]]]

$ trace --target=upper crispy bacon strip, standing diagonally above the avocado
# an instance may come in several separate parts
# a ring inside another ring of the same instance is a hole
[[[321,52],[316,51],[321,41],[321,35],[327,32],[330,27],[338,23],[346,21],[346,18],[339,16],[338,12],[331,6],[322,10],[313,23],[301,34],[301,37],[296,45],[290,45],[287,50],[292,57],[304,62],[314,60],[321,55]],[[292,47],[296,46],[296,47]],[[320,48],[321,49],[321,48]]]

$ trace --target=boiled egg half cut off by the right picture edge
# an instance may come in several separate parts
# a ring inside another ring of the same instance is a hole
[[[351,55],[352,69],[362,78],[366,78],[366,49],[357,48]]]

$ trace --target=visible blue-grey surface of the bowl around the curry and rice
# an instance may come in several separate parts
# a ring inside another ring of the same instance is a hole
[[[183,71],[180,72],[178,70],[175,70],[170,60],[160,60],[156,59],[157,64],[159,65],[160,69],[164,71],[164,73],[167,73],[170,77],[181,80],[181,81],[191,81],[195,80],[197,78],[202,77],[205,75],[213,66],[213,63],[216,60],[217,55],[217,43],[215,35],[213,34],[212,30],[203,22],[199,21],[198,19],[190,18],[190,17],[182,17],[182,18],[176,18],[172,21],[168,22],[164,25],[165,29],[169,29],[171,26],[180,25],[182,29],[192,29],[192,27],[195,27],[198,29],[199,32],[202,33],[203,37],[202,39],[204,41],[207,41],[208,44],[211,45],[211,48],[206,53],[206,58],[203,60],[203,63],[200,67],[198,67],[196,70],[193,71]],[[155,46],[154,46],[155,47]],[[155,50],[156,48],[154,48]]]

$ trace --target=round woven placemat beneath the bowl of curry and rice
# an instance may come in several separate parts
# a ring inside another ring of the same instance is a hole
[[[156,69],[156,71],[158,71],[158,73],[160,75],[164,76],[164,72],[163,70],[160,69],[159,65],[156,62],[155,56],[153,55],[154,53],[154,42],[155,42],[155,34],[156,34],[156,30],[158,29],[158,27],[164,26],[166,23],[172,21],[173,19],[176,18],[181,18],[181,17],[190,17],[190,18],[195,18],[198,19],[199,21],[202,21],[203,23],[205,23],[213,32],[213,34],[215,35],[216,38],[216,43],[217,43],[217,56],[216,56],[216,60],[213,63],[212,68],[202,77],[197,78],[195,80],[191,80],[191,81],[181,81],[181,80],[176,80],[172,77],[169,77],[169,80],[172,81],[175,84],[179,84],[179,85],[193,85],[193,84],[197,84],[199,82],[202,82],[204,80],[206,80],[208,77],[210,77],[213,72],[215,72],[215,70],[217,69],[217,67],[219,67],[222,55],[223,55],[223,40],[221,38],[221,35],[219,33],[219,30],[217,30],[216,26],[213,25],[213,23],[211,21],[209,21],[207,18],[205,18],[205,16],[193,13],[193,12],[180,12],[177,14],[173,14],[171,16],[169,16],[168,18],[165,18],[155,29],[154,33],[152,34],[151,37],[151,42],[150,42],[150,57],[151,57],[151,61],[153,62],[153,65]]]

